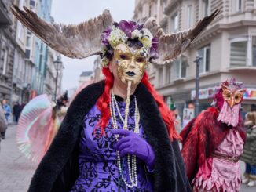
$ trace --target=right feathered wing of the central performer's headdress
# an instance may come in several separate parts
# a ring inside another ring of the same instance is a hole
[[[165,64],[175,60],[177,56],[181,55],[190,43],[202,32],[215,16],[217,16],[219,10],[214,11],[210,16],[206,16],[203,20],[200,20],[195,27],[188,31],[180,31],[174,34],[164,34],[161,27],[156,24],[155,18],[149,18],[144,27],[148,28],[152,32],[153,36],[159,38],[159,58],[152,60],[152,63]]]

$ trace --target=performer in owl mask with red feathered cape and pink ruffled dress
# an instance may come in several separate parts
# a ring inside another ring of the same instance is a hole
[[[221,82],[209,107],[181,132],[188,179],[195,191],[239,191],[245,132],[240,117],[242,83]]]

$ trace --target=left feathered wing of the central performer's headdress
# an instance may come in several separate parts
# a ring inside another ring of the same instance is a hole
[[[101,53],[101,33],[113,23],[108,10],[77,25],[47,23],[27,7],[22,11],[12,5],[11,11],[25,27],[51,48],[64,56],[79,59]]]

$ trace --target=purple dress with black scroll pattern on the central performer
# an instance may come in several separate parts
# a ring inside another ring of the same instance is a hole
[[[119,110],[124,119],[125,102],[119,96]],[[134,99],[130,101],[130,117],[128,118],[128,129],[134,129]],[[123,122],[115,110],[116,120],[119,129],[123,129]],[[115,151],[115,136],[110,130],[113,129],[112,120],[108,121],[105,135],[101,135],[101,129],[93,130],[101,119],[101,112],[96,105],[86,114],[79,143],[79,177],[71,191],[151,191],[148,171],[144,162],[137,158],[137,187],[128,188],[119,175]],[[140,123],[140,136],[144,138],[143,129]],[[126,158],[121,159],[123,176],[128,179]]]

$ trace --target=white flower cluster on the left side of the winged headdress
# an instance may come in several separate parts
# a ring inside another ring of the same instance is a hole
[[[120,43],[125,43],[127,39],[128,37],[122,30],[120,30],[119,28],[115,28],[109,34],[108,42],[112,46],[112,48],[115,49],[115,47]]]

